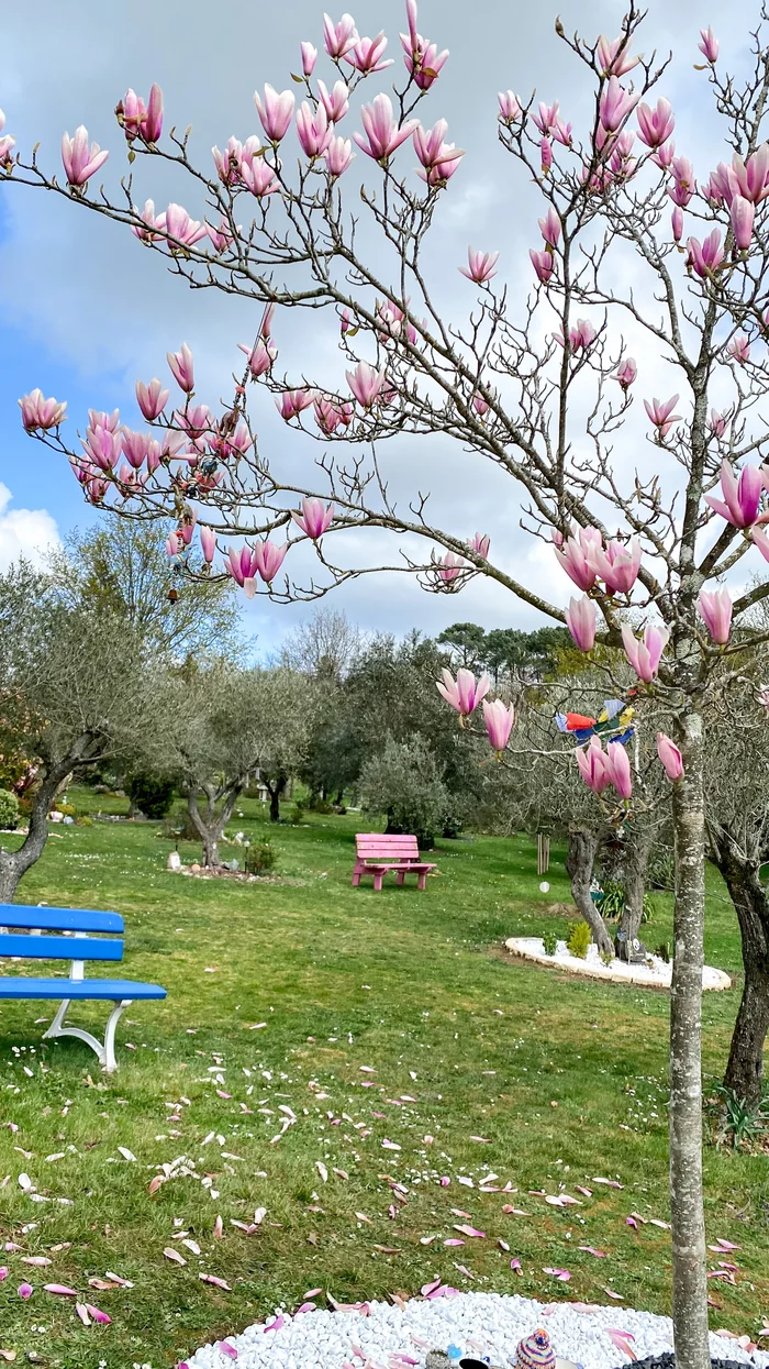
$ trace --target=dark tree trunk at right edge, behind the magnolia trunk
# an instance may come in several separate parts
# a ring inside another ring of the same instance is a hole
[[[710,850],[735,905],[744,965],[724,1086],[747,1103],[758,1103],[769,1031],[769,894],[761,882],[759,853],[748,858],[728,828],[710,831]]]

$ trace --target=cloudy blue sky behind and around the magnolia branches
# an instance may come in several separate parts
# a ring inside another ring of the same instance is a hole
[[[623,10],[616,0],[564,0],[561,18],[568,29],[579,27],[586,36],[613,36]],[[253,90],[264,81],[279,89],[290,84],[287,73],[297,70],[300,40],[311,38],[320,47],[320,11],[311,0],[290,5],[219,0],[212,18],[204,0],[157,0],[140,18],[134,7],[105,5],[103,0],[75,0],[67,7],[57,0],[30,0],[3,21],[0,107],[5,131],[25,152],[41,140],[41,159],[57,171],[62,131],[86,123],[92,137],[112,149],[104,179],[115,193],[125,159],[114,105],[129,85],[145,92],[157,79],[166,93],[167,127],[192,122],[197,160],[207,166],[212,142],[222,145],[230,133],[246,137],[257,131]],[[365,0],[353,11],[361,33],[386,29],[389,55],[400,63],[400,0]],[[679,127],[690,140],[681,138],[679,151],[701,148],[699,105],[706,96],[692,64],[699,26],[712,18],[718,27],[718,15],[709,15],[694,0],[653,0],[650,11],[649,37],[662,51],[673,45],[686,52],[666,84]],[[439,96],[432,100],[432,116],[443,114],[449,137],[468,149],[449,190],[439,248],[449,308],[469,305],[456,270],[468,242],[501,248],[513,281],[528,268],[525,249],[534,241],[538,205],[527,188],[521,193],[520,185],[508,179],[510,162],[495,144],[495,92],[512,86],[528,94],[538,86],[542,97],[558,96],[568,116],[579,119],[583,97],[575,81],[576,64],[554,38],[553,18],[554,0],[536,7],[508,0],[479,0],[473,7],[467,0],[421,0],[420,29],[452,52]],[[742,36],[754,18],[755,7],[747,0],[729,7],[729,33],[721,34],[727,59],[739,56]],[[386,88],[387,73],[375,79],[380,82],[376,89]],[[722,155],[721,148],[709,155],[707,170]],[[155,189],[159,204],[175,197],[172,188],[149,183],[146,192],[142,185],[138,199]],[[253,326],[242,305],[203,293],[192,296],[171,281],[161,261],[130,234],[42,193],[0,188],[0,564],[7,564],[19,548],[29,552],[55,535],[55,527],[64,534],[97,516],[81,501],[66,461],[23,435],[16,404],[22,393],[38,385],[45,394],[66,398],[70,431],[83,426],[89,407],[119,405],[131,422],[134,378],[164,375],[168,348],[189,341],[198,372],[220,394],[235,364],[237,342],[253,335]],[[298,344],[301,329],[291,333],[289,324],[289,334],[290,342]],[[320,330],[316,349],[327,346],[328,334]],[[297,350],[297,357],[301,355]],[[283,441],[271,413],[264,418],[264,435]],[[419,448],[412,444],[397,456],[395,468],[398,478],[419,468],[420,485],[427,482],[435,491],[446,519],[461,519],[462,535],[490,530],[497,546],[509,539],[520,548],[516,554],[545,575],[538,548],[520,543],[519,511],[509,494],[494,479],[468,474],[458,453],[432,449],[421,439]],[[457,619],[486,626],[531,623],[501,590],[473,585],[460,598],[447,600],[424,596],[402,578],[384,585],[361,580],[339,596],[337,606],[364,627],[394,631],[412,624],[439,631]],[[249,626],[267,648],[307,612],[261,602],[250,605]]]

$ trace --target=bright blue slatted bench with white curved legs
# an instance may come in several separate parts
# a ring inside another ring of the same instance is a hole
[[[8,928],[16,928],[15,932]],[[23,931],[18,931],[23,928]],[[23,908],[19,904],[0,904],[0,957],[18,956],[22,960],[68,960],[70,977],[31,979],[22,975],[0,975],[0,998],[59,998],[56,1016],[44,1035],[77,1036],[99,1055],[107,1071],[118,1068],[115,1060],[115,1028],[125,1008],[142,998],[166,998],[159,984],[140,984],[130,979],[86,979],[86,960],[122,960],[122,936],[82,936],[81,932],[122,932],[123,919],[118,913],[94,913],[81,908]],[[53,935],[47,935],[53,932]],[[66,997],[64,997],[66,995]],[[104,999],[114,1003],[104,1042],[81,1027],[64,1027],[64,1017],[73,1001]]]

